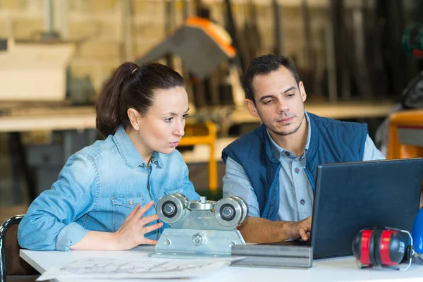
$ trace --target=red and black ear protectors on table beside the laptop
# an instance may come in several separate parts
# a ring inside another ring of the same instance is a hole
[[[405,245],[401,233],[407,233],[411,245]],[[415,256],[411,234],[408,231],[386,229],[364,229],[353,240],[353,254],[357,259],[357,266],[366,268],[371,266],[394,267],[408,259],[407,270]],[[359,264],[360,263],[360,264]]]

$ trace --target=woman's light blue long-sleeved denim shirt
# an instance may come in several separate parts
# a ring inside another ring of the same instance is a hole
[[[68,159],[56,183],[30,205],[19,224],[18,241],[31,250],[67,251],[88,231],[117,231],[137,203],[154,200],[145,216],[156,214],[160,198],[174,192],[200,198],[180,152],[154,152],[146,167],[120,127]],[[157,240],[161,231],[145,237]]]

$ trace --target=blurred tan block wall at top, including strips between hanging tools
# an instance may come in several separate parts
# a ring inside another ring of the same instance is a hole
[[[248,15],[249,1],[233,1],[236,23],[242,32]],[[274,23],[271,1],[256,0],[257,26],[262,39],[262,53],[274,48]],[[319,56],[324,54],[324,43],[319,38],[327,29],[329,15],[327,1],[310,1],[312,4],[312,44]],[[0,0],[0,37],[36,38],[45,30],[44,0]],[[110,72],[123,61],[133,60],[165,37],[164,0],[54,0],[54,25],[63,39],[77,43],[71,61],[73,92],[98,92]],[[193,1],[185,1],[193,11]],[[316,4],[317,3],[317,4]],[[124,16],[125,5],[132,6]],[[206,0],[212,18],[224,24],[223,0]],[[284,53],[295,56],[298,65],[305,65],[305,38],[301,20],[300,1],[281,1],[283,16]],[[173,27],[183,23],[182,1],[176,1]],[[87,88],[87,80],[93,89]],[[78,94],[77,94],[78,95]]]

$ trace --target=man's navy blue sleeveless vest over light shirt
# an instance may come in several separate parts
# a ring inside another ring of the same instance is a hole
[[[317,165],[345,161],[362,161],[367,137],[367,124],[336,121],[309,115],[311,138],[306,155],[305,171],[314,189]],[[222,159],[231,157],[243,166],[259,202],[260,215],[276,220],[279,209],[281,163],[271,152],[266,126],[260,125],[223,149]]]

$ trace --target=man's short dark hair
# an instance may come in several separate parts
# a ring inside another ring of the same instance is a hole
[[[300,78],[298,77],[298,71],[295,67],[295,63],[292,59],[286,56],[275,56],[267,54],[264,56],[259,56],[255,59],[252,59],[250,66],[248,66],[247,71],[243,75],[243,88],[245,91],[245,98],[252,100],[255,104],[254,99],[254,90],[252,88],[252,80],[256,75],[267,75],[272,71],[278,71],[281,66],[290,71],[295,78],[297,85],[300,83]]]

